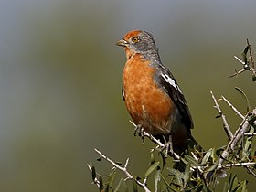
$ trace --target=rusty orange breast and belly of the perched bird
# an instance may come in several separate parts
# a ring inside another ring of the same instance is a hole
[[[123,69],[124,99],[134,123],[152,134],[170,132],[174,105],[154,80],[155,68],[138,54],[127,60]]]

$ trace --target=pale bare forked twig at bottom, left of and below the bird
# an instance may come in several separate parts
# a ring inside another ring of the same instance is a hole
[[[109,157],[107,157],[106,155],[103,155],[98,149],[94,149],[99,155],[101,155],[101,157],[103,159],[105,159],[106,161],[108,161],[109,163],[111,163],[113,166],[115,166],[117,169],[121,170],[123,172],[123,174],[125,176],[127,176],[127,179],[132,179],[136,182],[136,184],[140,187],[142,187],[144,189],[145,192],[150,192],[150,190],[148,189],[148,187],[146,187],[146,179],[144,179],[144,182],[140,182],[137,179],[135,179],[127,170],[127,166],[129,163],[129,158],[126,159],[125,165],[122,167],[118,164],[116,164],[114,161],[112,161],[112,159],[110,159]]]

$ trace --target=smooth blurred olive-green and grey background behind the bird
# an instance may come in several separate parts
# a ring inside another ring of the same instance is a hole
[[[133,29],[153,33],[165,66],[187,98],[206,149],[227,144],[209,91],[240,112],[254,107],[251,74],[241,69],[250,39],[256,48],[255,1],[0,1],[0,190],[98,191],[86,166],[101,174],[94,148],[143,176],[152,144],[133,136],[122,96],[125,56],[115,42]],[[240,119],[221,105],[234,131]],[[255,179],[243,169],[240,178]],[[222,179],[223,182],[225,179]]]

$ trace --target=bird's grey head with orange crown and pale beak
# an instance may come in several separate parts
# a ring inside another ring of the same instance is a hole
[[[124,48],[127,59],[131,58],[136,53],[140,53],[144,56],[158,53],[153,36],[143,30],[128,32],[123,38],[117,41],[116,45]]]

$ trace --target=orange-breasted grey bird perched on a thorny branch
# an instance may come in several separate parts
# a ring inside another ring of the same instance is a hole
[[[161,62],[154,37],[144,30],[129,31],[117,41],[123,47],[122,95],[133,123],[155,138],[171,141],[184,154],[194,124],[187,101],[173,74]]]

